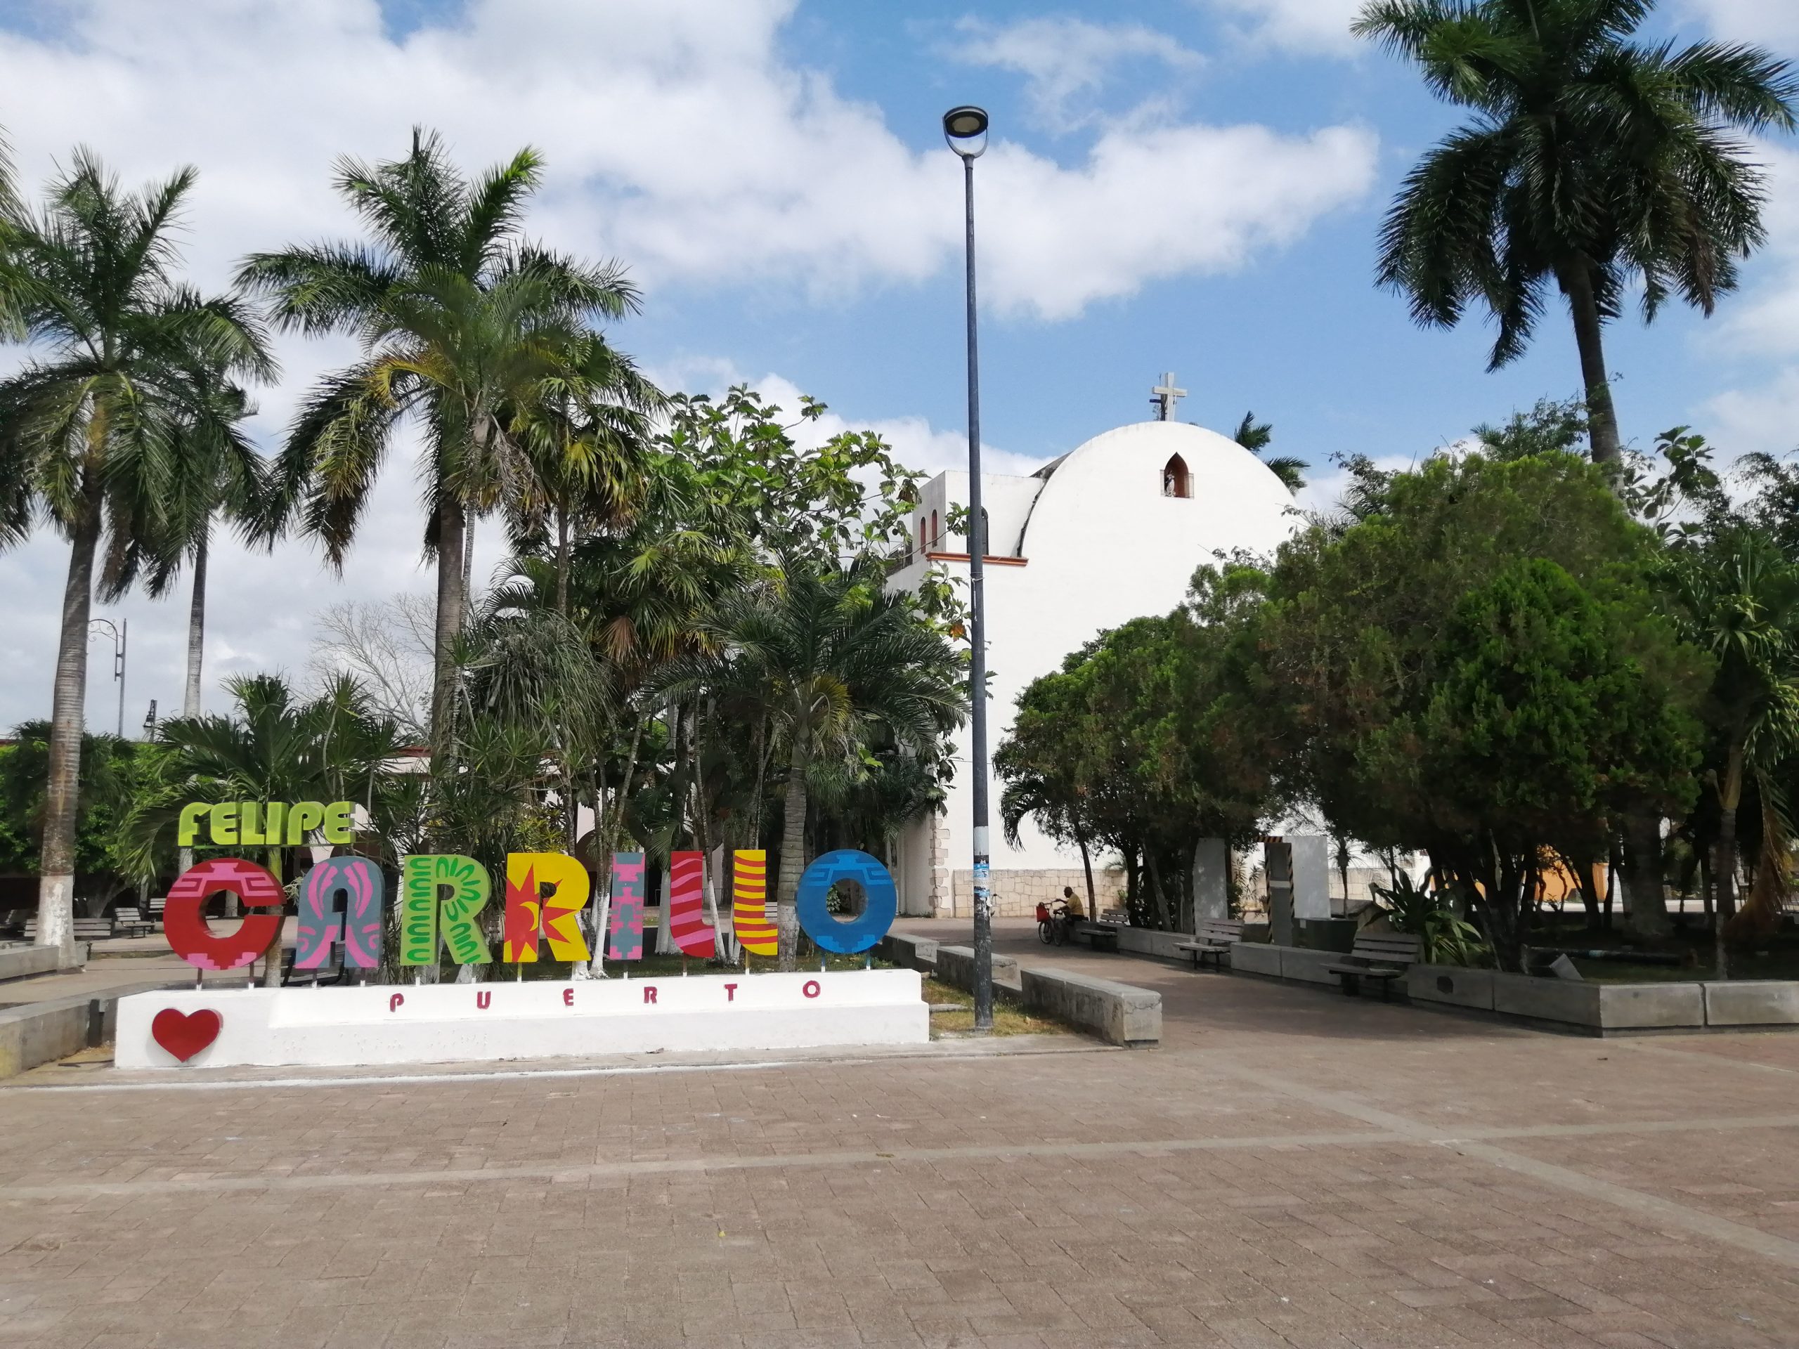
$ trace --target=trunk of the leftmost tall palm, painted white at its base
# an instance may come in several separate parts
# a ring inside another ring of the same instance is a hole
[[[88,700],[88,610],[94,549],[101,536],[99,478],[86,475],[81,514],[68,547],[63,630],[50,692],[50,764],[43,791],[43,853],[38,863],[38,946],[76,944],[76,815],[81,809],[81,732]]]

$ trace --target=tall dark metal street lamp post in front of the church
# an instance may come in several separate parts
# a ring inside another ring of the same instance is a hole
[[[943,138],[962,156],[962,201],[968,214],[968,737],[975,797],[975,1029],[993,1029],[993,892],[988,853],[988,513],[980,509],[980,363],[975,356],[975,160],[988,147],[982,108],[950,108]]]

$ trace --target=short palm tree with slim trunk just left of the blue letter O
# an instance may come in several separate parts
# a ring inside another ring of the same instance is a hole
[[[792,969],[793,905],[808,862],[808,773],[858,757],[876,727],[900,748],[934,752],[966,712],[966,673],[908,595],[885,594],[885,572],[873,558],[829,570],[783,559],[768,583],[725,595],[705,626],[725,648],[725,664],[689,667],[666,687],[709,683],[759,703],[784,748],[775,905],[781,968]]]

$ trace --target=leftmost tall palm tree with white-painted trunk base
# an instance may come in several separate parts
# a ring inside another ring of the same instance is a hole
[[[200,394],[192,371],[270,378],[255,324],[173,277],[173,225],[194,171],[124,192],[86,151],[41,212],[7,219],[14,304],[31,360],[0,381],[0,547],[41,511],[70,541],[50,703],[38,941],[72,939],[74,829],[95,554],[103,594],[130,585],[139,547],[167,547],[167,504]]]

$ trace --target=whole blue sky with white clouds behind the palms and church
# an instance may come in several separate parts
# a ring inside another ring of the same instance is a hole
[[[959,167],[943,110],[980,103],[982,408],[995,462],[1027,468],[1148,414],[1175,371],[1182,417],[1249,408],[1275,444],[1410,459],[1578,387],[1560,315],[1486,374],[1479,318],[1418,331],[1373,288],[1400,176],[1454,124],[1346,34],[1353,0],[871,5],[865,0],[0,0],[0,128],[27,183],[85,142],[128,180],[196,164],[196,281],[234,257],[351,232],[331,158],[403,151],[437,126],[470,167],[549,158],[533,225],[615,254],[648,291],[619,344],[669,387],[750,380],[876,424],[926,469],[964,428]],[[1668,0],[1653,34],[1799,54],[1792,0]],[[1799,444],[1799,151],[1774,169],[1768,252],[1713,320],[1610,333],[1628,439],[1691,423],[1727,453]],[[273,441],[342,342],[288,342],[259,394]],[[0,363],[18,353],[0,353]],[[1204,486],[1204,484],[1202,484]],[[306,619],[423,592],[416,487],[396,462],[351,572],[306,543],[227,559],[209,683],[308,660]],[[491,531],[479,570],[498,561]],[[49,710],[65,549],[0,556],[18,657],[0,725]],[[281,606],[268,595],[288,592]],[[130,601],[130,721],[178,703],[183,604]],[[94,719],[112,705],[106,662]],[[218,705],[218,696],[212,696]]]

